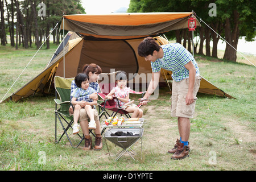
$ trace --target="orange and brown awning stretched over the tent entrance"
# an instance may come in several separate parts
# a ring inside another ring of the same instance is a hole
[[[61,29],[108,39],[134,39],[187,28],[191,13],[64,15]],[[198,26],[200,23],[196,22]]]

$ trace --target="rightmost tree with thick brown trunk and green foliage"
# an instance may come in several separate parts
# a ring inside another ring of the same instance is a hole
[[[247,41],[256,36],[256,2],[248,0],[220,0],[221,18],[225,20],[226,44],[224,59],[236,61],[238,40],[245,36]],[[231,46],[230,46],[230,45]]]

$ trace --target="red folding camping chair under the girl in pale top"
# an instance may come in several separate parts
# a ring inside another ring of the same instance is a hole
[[[109,94],[109,92],[117,85],[116,82],[115,82],[115,75],[118,73],[119,71],[117,72],[112,72],[112,73],[101,73],[101,77],[104,77],[104,80],[99,82],[99,86],[100,86],[100,93],[98,93],[98,96],[99,98],[101,99],[101,102],[100,104],[98,104],[98,110],[99,110],[99,113],[101,113],[102,111],[105,111],[105,113],[103,115],[105,115],[106,119],[108,117],[115,117],[115,115],[117,115],[118,113],[122,116],[122,115],[125,115],[126,118],[130,118],[130,114],[125,110],[125,109],[122,109],[119,105],[119,101],[118,101],[118,106],[119,107],[115,107],[115,97],[113,97],[113,100],[105,100],[105,96]],[[106,81],[107,80],[107,81]],[[143,97],[143,94],[145,92],[136,92],[132,89],[130,89],[130,93],[133,93],[133,94],[142,94],[142,97]],[[138,105],[138,107],[141,107],[142,105]],[[109,112],[112,112],[112,113],[108,113]],[[102,115],[101,115],[102,116]]]

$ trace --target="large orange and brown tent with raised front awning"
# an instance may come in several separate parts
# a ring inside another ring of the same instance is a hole
[[[61,29],[68,34],[44,70],[5,101],[19,101],[38,92],[48,93],[54,76],[75,77],[84,64],[100,65],[102,72],[126,71],[137,79],[151,73],[150,63],[138,56],[138,44],[153,36],[159,44],[168,41],[164,32],[187,28],[192,13],[122,13],[109,15],[64,15]],[[200,23],[197,21],[197,26]],[[65,66],[64,66],[65,64]],[[65,72],[65,74],[64,74]],[[170,71],[162,71],[160,82],[171,80]],[[149,82],[150,78],[146,80]],[[199,92],[233,98],[209,81],[203,80]]]

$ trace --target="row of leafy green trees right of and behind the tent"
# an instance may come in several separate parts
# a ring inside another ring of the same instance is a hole
[[[209,16],[209,4],[215,3],[217,16]],[[194,32],[200,36],[199,53],[203,55],[205,41],[206,55],[210,56],[210,40],[213,41],[212,57],[217,57],[217,44],[220,36],[237,49],[238,39],[246,36],[247,41],[254,40],[256,36],[256,1],[249,0],[181,0],[181,1],[153,1],[153,0],[131,0],[129,12],[180,12],[192,11],[204,20],[207,25],[201,23]],[[198,18],[198,17],[197,17]],[[210,29],[211,27],[217,34]],[[183,43],[188,36],[181,30],[176,31],[176,41]],[[190,39],[190,38],[189,38]],[[189,41],[189,40],[188,40]],[[227,44],[224,59],[236,61],[236,50]],[[183,44],[185,45],[185,44]]]

